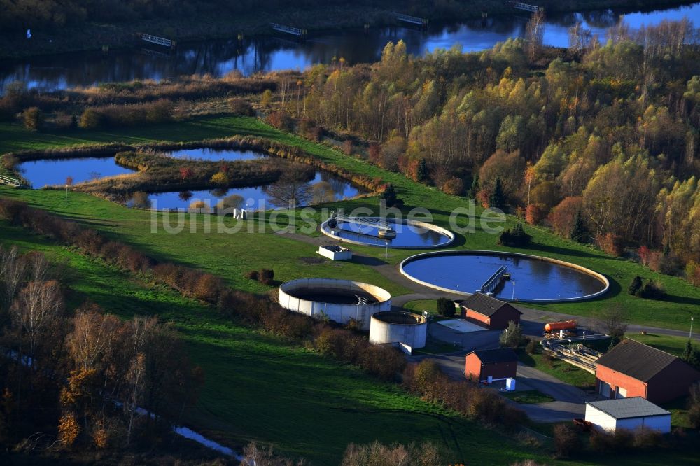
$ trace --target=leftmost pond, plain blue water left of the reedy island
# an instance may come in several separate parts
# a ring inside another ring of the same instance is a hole
[[[45,185],[63,185],[71,176],[73,184],[96,180],[105,176],[133,173],[134,170],[122,167],[114,157],[85,157],[77,159],[43,159],[22,162],[19,170],[32,188]]]

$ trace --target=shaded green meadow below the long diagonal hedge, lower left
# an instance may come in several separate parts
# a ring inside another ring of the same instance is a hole
[[[454,462],[479,452],[488,453],[484,464],[494,465],[537,456],[356,367],[235,325],[209,306],[149,288],[41,236],[0,222],[0,243],[39,250],[65,264],[70,309],[89,298],[121,318],[155,314],[174,321],[190,357],[206,374],[200,401],[188,409],[186,423],[236,449],[250,441],[271,442],[276,451],[316,465],[337,464],[347,444],[375,439],[435,442]]]

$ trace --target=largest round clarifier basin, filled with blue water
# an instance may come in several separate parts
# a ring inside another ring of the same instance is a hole
[[[414,255],[400,271],[437,290],[465,296],[478,291],[506,301],[582,301],[603,295],[610,286],[602,274],[570,262],[491,250]]]

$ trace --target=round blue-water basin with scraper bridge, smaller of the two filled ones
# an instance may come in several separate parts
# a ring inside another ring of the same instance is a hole
[[[335,228],[328,223],[321,226],[321,232],[327,236],[335,237],[349,243],[359,243],[367,246],[381,246],[382,248],[439,248],[451,243],[454,236],[441,231],[433,225],[413,225],[410,223],[396,223],[391,218],[360,217],[361,221],[338,221]],[[380,237],[379,230],[384,230],[377,221],[384,222],[395,232],[395,237]]]

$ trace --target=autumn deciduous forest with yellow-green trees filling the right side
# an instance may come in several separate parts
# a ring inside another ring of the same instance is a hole
[[[645,264],[700,283],[698,31],[575,27],[559,56],[532,34],[421,58],[388,43],[377,64],[283,78],[281,111],[375,141],[372,162],[484,206],[498,185],[496,207],[562,236],[580,212],[585,241],[642,246]]]

